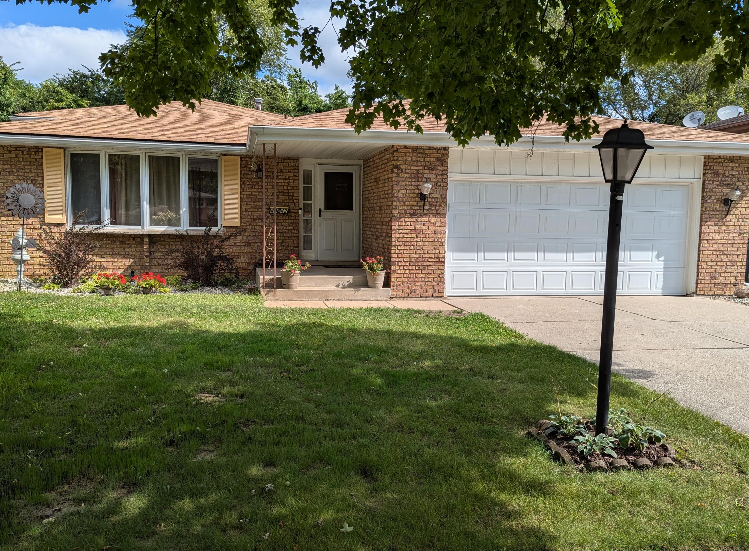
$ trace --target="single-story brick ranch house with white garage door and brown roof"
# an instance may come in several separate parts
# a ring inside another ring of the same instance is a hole
[[[602,293],[608,193],[597,139],[565,143],[543,122],[510,147],[487,137],[462,148],[436,121],[423,134],[375,124],[357,135],[345,115],[286,118],[207,100],[195,112],[162,106],[156,118],[127,106],[27,113],[0,123],[0,183],[42,186],[46,222],[60,228],[82,210],[109,219],[99,260],[125,274],[173,273],[177,228],[242,228],[230,249],[246,276],[262,257],[255,165],[265,144],[276,148],[276,204],[288,207],[277,215],[279,261],[383,255],[400,297]],[[621,124],[596,121],[601,133]],[[745,269],[749,136],[631,126],[655,150],[625,194],[620,292],[732,293]],[[433,187],[422,204],[424,182]],[[19,228],[6,212],[4,243]],[[28,226],[37,239],[40,222]],[[12,277],[10,247],[1,251],[0,275]],[[49,275],[40,257],[32,252],[29,275]]]

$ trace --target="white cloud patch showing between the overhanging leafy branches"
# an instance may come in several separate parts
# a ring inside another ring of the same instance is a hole
[[[330,19],[329,8],[329,0],[302,0],[296,7],[295,11],[300,19],[302,19],[300,21],[300,26],[302,28],[308,25],[315,25],[318,28],[323,28],[328,19]],[[304,76],[308,79],[318,81],[318,89],[321,94],[332,92],[336,84],[351,91],[351,81],[346,75],[349,68],[349,56],[346,52],[341,52],[341,46],[338,45],[338,37],[334,30],[334,28],[341,28],[341,26],[342,20],[339,19],[337,22],[333,21],[332,25],[331,23],[328,23],[327,27],[322,31],[319,45],[325,54],[325,63],[318,69],[315,69],[312,64],[302,63],[299,58],[299,46],[289,48],[288,51],[288,57],[291,59],[291,64],[294,65],[294,67],[301,67]]]

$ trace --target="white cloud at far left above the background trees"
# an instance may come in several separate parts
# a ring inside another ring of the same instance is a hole
[[[81,65],[96,69],[100,53],[124,40],[120,29],[7,25],[0,27],[0,55],[7,64],[20,61],[20,78],[41,82]]]

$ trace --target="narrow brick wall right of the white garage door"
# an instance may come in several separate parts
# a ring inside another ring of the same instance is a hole
[[[723,199],[736,186],[739,201],[727,207]],[[733,294],[744,281],[749,238],[749,158],[705,156],[697,254],[697,293]]]

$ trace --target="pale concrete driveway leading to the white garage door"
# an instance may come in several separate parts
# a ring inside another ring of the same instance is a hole
[[[601,296],[444,299],[598,362]],[[749,308],[703,296],[619,296],[613,369],[749,434]]]

